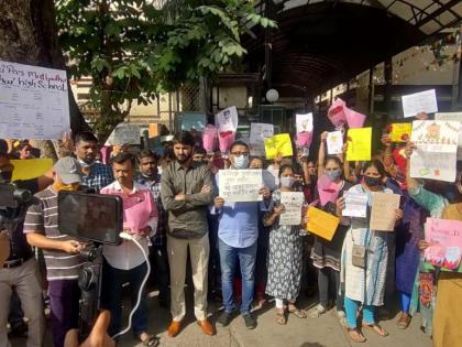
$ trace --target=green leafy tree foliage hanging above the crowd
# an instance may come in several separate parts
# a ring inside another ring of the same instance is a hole
[[[147,105],[241,58],[252,25],[275,26],[249,0],[56,0],[56,13],[70,74],[92,77],[88,107],[102,137],[133,101]]]

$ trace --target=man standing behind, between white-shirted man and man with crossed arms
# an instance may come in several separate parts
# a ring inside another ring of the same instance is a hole
[[[136,177],[136,182],[146,186],[153,195],[154,202],[157,204],[158,224],[157,232],[152,238],[152,247],[150,251],[151,264],[154,278],[158,279],[158,303],[162,307],[168,307],[168,258],[166,249],[166,229],[167,214],[162,206],[161,200],[161,175],[157,170],[157,155],[150,151],[143,150],[138,155],[141,175]]]

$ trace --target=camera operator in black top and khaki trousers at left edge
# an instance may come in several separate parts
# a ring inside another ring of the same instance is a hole
[[[13,165],[8,154],[0,152],[0,182],[11,183]],[[33,180],[15,181],[16,187],[35,194],[46,185],[53,183],[47,176]],[[38,267],[31,246],[23,232],[23,221],[30,203],[21,203],[19,207],[0,206],[0,231],[8,237],[9,257],[0,268],[0,346],[11,346],[7,337],[7,321],[11,295],[18,294],[25,316],[29,318],[28,347],[42,346],[45,330],[43,316],[42,289],[40,284]],[[16,303],[19,301],[16,300]],[[21,306],[11,307],[18,316],[19,326],[23,325]],[[11,323],[12,330],[19,329]],[[22,327],[21,327],[22,329]]]

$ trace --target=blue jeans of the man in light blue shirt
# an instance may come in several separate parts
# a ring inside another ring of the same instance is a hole
[[[238,265],[241,268],[242,276],[242,305],[241,314],[248,314],[253,300],[254,271],[256,261],[256,242],[246,248],[234,248],[219,240],[220,264],[221,264],[221,288],[223,292],[224,311],[234,311],[233,280]]]

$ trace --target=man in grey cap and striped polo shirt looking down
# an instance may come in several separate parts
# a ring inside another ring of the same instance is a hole
[[[24,232],[31,246],[43,249],[48,280],[51,328],[55,347],[63,347],[66,333],[78,327],[78,274],[84,263],[79,253],[84,245],[58,229],[59,191],[77,191],[81,183],[80,165],[70,156],[53,166],[54,183],[35,194],[38,204],[28,209]]]

